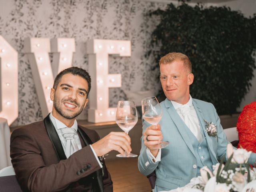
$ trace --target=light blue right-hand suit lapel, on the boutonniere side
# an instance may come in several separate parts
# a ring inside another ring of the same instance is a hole
[[[193,99],[193,105],[194,105],[194,108],[196,110],[196,114],[198,116],[198,120],[201,124],[202,130],[204,131],[204,135],[205,135],[205,138],[206,138],[206,141],[207,141],[207,146],[208,146],[208,150],[210,152],[212,162],[216,162],[218,160],[216,159],[216,155],[215,155],[214,150],[212,148],[212,146],[213,146],[212,139],[210,138],[210,136],[206,132],[206,128],[205,128],[206,124],[204,122],[204,116],[203,116],[202,110],[201,110],[200,106],[198,106],[197,102],[194,99]]]

